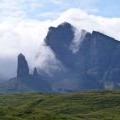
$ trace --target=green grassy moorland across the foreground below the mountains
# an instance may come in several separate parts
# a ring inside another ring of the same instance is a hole
[[[0,94],[0,120],[120,120],[120,91]]]

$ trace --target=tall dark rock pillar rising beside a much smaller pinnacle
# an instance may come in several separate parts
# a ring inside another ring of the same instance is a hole
[[[23,54],[18,55],[17,77],[26,77],[29,75],[29,67]]]

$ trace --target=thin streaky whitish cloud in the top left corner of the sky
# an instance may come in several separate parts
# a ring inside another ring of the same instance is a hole
[[[37,14],[37,10],[44,7],[44,3],[38,0],[1,0],[0,19],[8,17],[29,18]],[[32,14],[32,16],[30,15]]]

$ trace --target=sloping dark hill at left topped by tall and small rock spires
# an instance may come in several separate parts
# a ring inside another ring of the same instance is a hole
[[[27,60],[23,54],[18,55],[17,77],[0,84],[0,92],[50,92],[50,84],[43,80],[34,69],[29,74]]]

